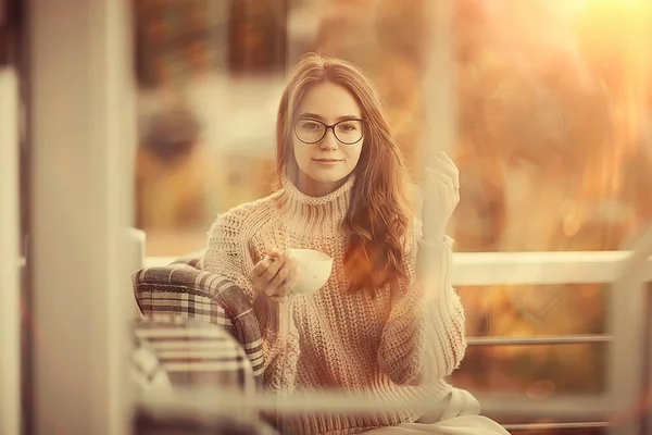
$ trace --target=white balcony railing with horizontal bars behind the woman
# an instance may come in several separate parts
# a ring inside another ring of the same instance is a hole
[[[623,273],[632,274],[632,265],[628,264],[630,259],[630,251],[459,252],[454,254],[452,283],[454,286],[612,284],[618,282]],[[174,260],[173,257],[149,257],[145,265],[165,265]],[[636,272],[637,282],[652,282],[652,258]],[[609,388],[604,394],[557,395],[541,400],[501,393],[477,394],[484,412],[527,419],[553,418],[559,423],[547,423],[546,427],[559,428],[606,427],[614,414],[627,412],[641,399],[644,382],[642,362],[645,352],[652,351],[645,349],[642,341],[643,327],[640,327],[639,321],[644,319],[642,310],[645,303],[639,287],[632,285],[627,291],[618,286],[612,288],[607,299],[607,334],[468,337],[469,346],[609,344],[605,356],[609,361]],[[632,307],[638,307],[638,310],[632,310]],[[641,418],[634,420],[640,421]],[[544,427],[541,424],[513,424],[509,428]],[[636,431],[632,425],[631,430],[618,433],[637,434]]]

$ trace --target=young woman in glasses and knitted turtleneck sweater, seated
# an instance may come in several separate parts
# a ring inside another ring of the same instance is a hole
[[[449,283],[452,240],[444,236],[459,202],[453,162],[440,153],[428,171],[422,240],[408,172],[376,91],[351,64],[315,54],[291,74],[276,141],[277,191],[220,215],[203,258],[205,270],[253,302],[264,386],[449,403],[434,423],[397,410],[302,415],[286,420],[285,428],[505,434],[476,415],[468,393],[444,382],[466,347],[463,309]],[[333,257],[333,273],[316,294],[292,294],[301,271],[286,253],[291,248]],[[417,269],[432,273],[416,279]]]

